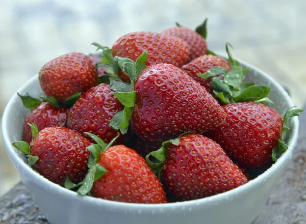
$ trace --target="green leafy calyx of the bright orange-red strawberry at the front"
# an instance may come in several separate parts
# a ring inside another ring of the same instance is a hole
[[[87,147],[87,149],[90,151],[90,155],[88,158],[89,171],[84,180],[78,184],[72,183],[68,177],[65,180],[65,188],[72,189],[80,187],[77,192],[81,195],[89,194],[93,186],[93,182],[97,181],[103,175],[106,174],[107,170],[103,166],[98,164],[97,161],[100,158],[100,155],[104,153],[105,150],[107,150],[109,147],[111,147],[115,143],[116,139],[119,137],[118,134],[112,139],[109,144],[106,144],[101,138],[90,132],[84,132],[84,134],[87,134],[96,142],[96,144],[92,144]]]

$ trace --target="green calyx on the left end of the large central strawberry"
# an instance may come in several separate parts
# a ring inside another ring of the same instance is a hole
[[[148,57],[147,51],[139,55],[136,62],[129,58],[115,57],[114,60],[118,62],[120,69],[131,79],[131,85],[124,83],[117,79],[111,79],[110,89],[116,98],[122,103],[124,109],[119,111],[111,120],[110,126],[114,129],[120,129],[122,134],[127,132],[129,120],[132,114],[133,106],[136,102],[136,92],[134,91],[134,84],[136,78],[145,68],[145,63]]]

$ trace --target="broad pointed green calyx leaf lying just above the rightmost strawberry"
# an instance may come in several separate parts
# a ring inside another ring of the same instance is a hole
[[[269,96],[271,87],[265,85],[253,85],[234,97],[236,102],[256,101]]]

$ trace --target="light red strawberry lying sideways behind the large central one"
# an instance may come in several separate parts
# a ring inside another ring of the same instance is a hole
[[[145,50],[148,52],[146,66],[169,63],[181,67],[188,55],[188,46],[182,39],[151,32],[126,34],[120,37],[112,47],[114,56],[130,58],[134,62]],[[123,81],[130,80],[129,76],[122,71],[119,71],[118,76]]]

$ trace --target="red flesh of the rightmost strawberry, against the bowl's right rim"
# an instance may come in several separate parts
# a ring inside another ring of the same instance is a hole
[[[210,136],[228,156],[249,168],[272,162],[272,149],[282,135],[282,117],[272,108],[254,102],[223,106],[226,119]]]

